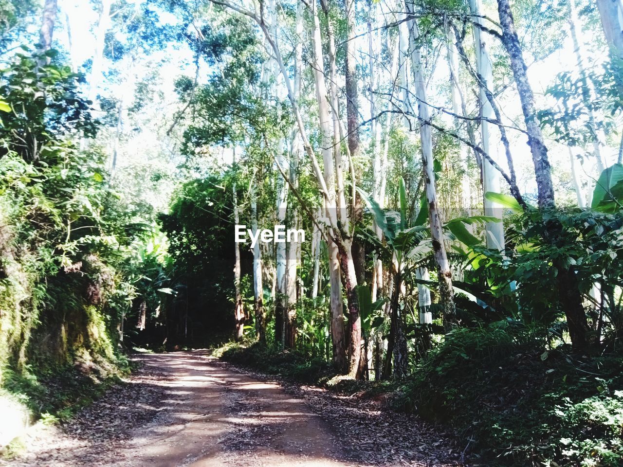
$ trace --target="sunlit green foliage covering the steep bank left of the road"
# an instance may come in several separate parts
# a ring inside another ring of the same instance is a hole
[[[36,59],[18,54],[0,76],[0,384],[60,417],[127,366],[118,328],[144,293],[150,210],[113,189],[97,146],[76,147],[97,128],[77,76],[34,73]]]

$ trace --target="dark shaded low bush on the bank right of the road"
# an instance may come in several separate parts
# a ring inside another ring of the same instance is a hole
[[[452,331],[396,405],[446,423],[487,465],[618,466],[623,358],[575,360],[515,323]]]

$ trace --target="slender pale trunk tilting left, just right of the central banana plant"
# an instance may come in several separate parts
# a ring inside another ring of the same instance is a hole
[[[407,12],[412,12],[412,4],[407,3]],[[414,20],[408,22],[409,45],[411,48],[411,68],[416,87],[417,108],[420,123],[420,139],[422,145],[422,167],[424,170],[424,187],[426,200],[429,207],[430,236],[434,251],[435,263],[437,263],[437,275],[439,276],[439,295],[443,304],[444,328],[450,331],[456,323],[456,309],[454,306],[454,290],[452,289],[452,272],[450,263],[445,252],[444,230],[437,204],[437,186],[433,168],[432,134],[430,125],[426,122],[430,119],[430,111],[426,104],[426,81],[422,75],[422,58],[419,48],[419,31]],[[395,344],[394,344],[395,345]]]

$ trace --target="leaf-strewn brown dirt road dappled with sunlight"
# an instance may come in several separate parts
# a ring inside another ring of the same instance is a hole
[[[32,432],[26,453],[7,465],[457,465],[457,450],[413,418],[317,389],[284,389],[202,351],[136,359],[141,369],[127,384],[64,426]]]

